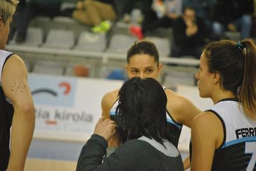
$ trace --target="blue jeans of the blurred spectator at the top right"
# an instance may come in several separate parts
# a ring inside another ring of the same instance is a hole
[[[252,17],[250,15],[243,15],[239,17],[237,20],[232,22],[236,29],[241,31],[241,38],[249,38],[251,29],[252,29]],[[214,22],[212,25],[213,33],[221,36],[225,32],[225,26],[220,22]]]

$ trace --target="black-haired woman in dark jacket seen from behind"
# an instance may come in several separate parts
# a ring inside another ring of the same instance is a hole
[[[117,129],[114,121],[99,120],[81,151],[77,170],[184,170],[167,129],[167,98],[159,82],[134,77],[118,96]],[[115,129],[122,145],[102,162]]]

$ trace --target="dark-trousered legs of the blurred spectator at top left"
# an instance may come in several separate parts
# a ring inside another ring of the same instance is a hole
[[[42,15],[54,17],[60,15],[60,7],[63,0],[22,0],[19,4],[18,13],[13,17],[13,24],[9,40],[12,40],[17,31],[16,41],[21,43],[26,40],[29,22],[36,16]]]

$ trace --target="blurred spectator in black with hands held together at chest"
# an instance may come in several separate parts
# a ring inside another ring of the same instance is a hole
[[[200,57],[205,37],[210,31],[205,26],[204,20],[196,17],[193,8],[184,7],[184,15],[173,23],[173,57],[195,56]]]

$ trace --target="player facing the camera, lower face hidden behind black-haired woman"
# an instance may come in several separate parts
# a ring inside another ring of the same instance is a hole
[[[163,64],[159,63],[158,50],[151,41],[136,41],[127,51],[127,65],[125,69],[129,78],[150,77],[157,79],[162,67]],[[109,92],[102,98],[102,116],[105,119],[109,119],[111,115],[115,116],[114,104],[118,101],[118,91],[119,89]],[[166,119],[175,138],[173,144],[177,145],[182,124],[190,128],[193,117],[199,114],[200,110],[191,101],[179,96],[172,90],[164,89],[164,91],[168,99]],[[118,147],[118,143],[111,141],[109,142],[109,147]]]

